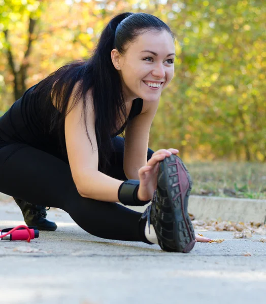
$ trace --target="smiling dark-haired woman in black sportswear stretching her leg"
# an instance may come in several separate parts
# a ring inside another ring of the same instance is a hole
[[[0,119],[0,192],[61,208],[101,238],[189,252],[190,176],[178,150],[148,150],[161,91],[174,74],[174,41],[157,17],[123,13],[91,58],[28,89]],[[151,200],[143,214],[115,203]]]

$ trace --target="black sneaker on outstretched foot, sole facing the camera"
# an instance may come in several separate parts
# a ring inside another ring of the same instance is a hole
[[[153,225],[161,249],[189,252],[195,244],[187,211],[192,180],[179,157],[171,155],[160,162],[157,182],[152,204],[142,218]]]

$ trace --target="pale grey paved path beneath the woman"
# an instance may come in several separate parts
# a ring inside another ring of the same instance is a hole
[[[266,243],[204,232],[188,254],[157,245],[110,241],[80,229],[58,209],[56,232],[26,242],[0,241],[1,304],[265,303]],[[0,229],[23,224],[13,201],[0,202]],[[266,237],[265,237],[266,238]]]

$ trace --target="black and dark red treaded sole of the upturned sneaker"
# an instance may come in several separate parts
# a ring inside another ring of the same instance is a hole
[[[167,250],[187,253],[195,245],[194,229],[187,211],[192,180],[182,160],[176,155],[166,157],[161,165],[165,180],[158,180],[158,188],[163,192],[167,191],[168,207],[173,214],[173,237],[176,245],[174,250]]]

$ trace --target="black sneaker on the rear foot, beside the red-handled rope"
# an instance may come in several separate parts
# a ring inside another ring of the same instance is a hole
[[[57,229],[57,225],[55,222],[46,219],[46,207],[40,205],[33,205],[17,198],[13,199],[21,209],[25,223],[28,226],[35,226],[38,230],[47,231],[55,231]]]

